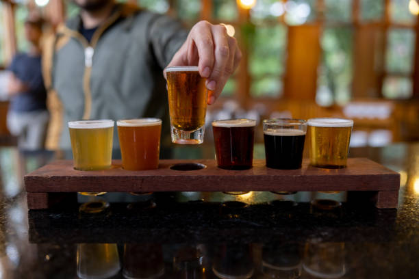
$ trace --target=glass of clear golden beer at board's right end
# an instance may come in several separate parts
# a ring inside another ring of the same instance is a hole
[[[314,118],[309,125],[310,163],[318,168],[345,168],[353,120]]]

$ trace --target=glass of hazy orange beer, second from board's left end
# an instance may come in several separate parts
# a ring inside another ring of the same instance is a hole
[[[162,120],[119,120],[118,137],[125,170],[153,170],[159,166]]]

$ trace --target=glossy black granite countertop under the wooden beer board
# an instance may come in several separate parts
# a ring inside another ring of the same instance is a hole
[[[201,146],[170,157],[213,154]],[[351,157],[401,174],[398,209],[346,202],[344,192],[183,192],[106,194],[110,207],[97,214],[79,204],[27,211],[23,174],[53,154],[0,148],[0,278],[417,278],[419,144]],[[323,210],[316,198],[342,206]]]

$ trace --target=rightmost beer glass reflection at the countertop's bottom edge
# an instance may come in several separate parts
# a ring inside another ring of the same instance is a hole
[[[316,278],[341,278],[345,275],[343,242],[305,243],[304,270]]]

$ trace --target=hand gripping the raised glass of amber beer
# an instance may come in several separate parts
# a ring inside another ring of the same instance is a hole
[[[200,21],[192,27],[186,42],[168,66],[199,66],[199,74],[207,79],[206,86],[210,90],[207,103],[211,105],[220,96],[241,58],[236,39],[227,35],[223,25]]]

